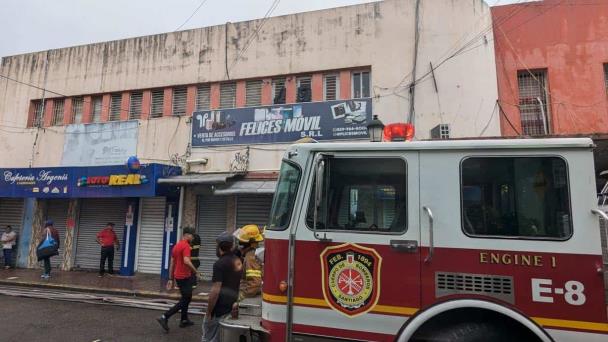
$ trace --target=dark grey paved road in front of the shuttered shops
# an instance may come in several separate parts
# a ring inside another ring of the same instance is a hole
[[[0,341],[200,341],[203,316],[181,329],[179,314],[166,334],[154,320],[161,312],[111,305],[0,295]]]

